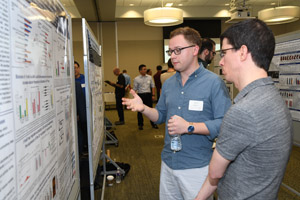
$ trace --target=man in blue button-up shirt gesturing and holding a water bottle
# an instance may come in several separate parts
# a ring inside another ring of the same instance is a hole
[[[200,47],[196,30],[172,31],[167,53],[177,72],[164,82],[156,107],[144,105],[134,91],[133,99],[123,99],[128,109],[166,123],[160,175],[164,200],[195,198],[207,176],[213,140],[231,105],[224,81],[199,65]],[[174,138],[180,138],[181,145]],[[174,148],[179,146],[181,150]]]

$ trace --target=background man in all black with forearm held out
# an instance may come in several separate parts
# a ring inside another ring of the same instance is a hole
[[[124,110],[122,105],[122,98],[125,96],[125,77],[120,72],[120,69],[117,67],[113,69],[113,73],[118,77],[118,81],[116,83],[110,81],[105,81],[105,82],[115,87],[116,107],[119,116],[119,121],[116,121],[115,125],[123,125],[125,124],[125,121],[124,121]]]

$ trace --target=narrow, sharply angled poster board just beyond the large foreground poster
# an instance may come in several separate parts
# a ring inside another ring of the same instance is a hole
[[[86,112],[88,126],[89,171],[91,199],[94,199],[93,182],[96,176],[104,140],[103,69],[101,46],[85,19],[82,19]]]

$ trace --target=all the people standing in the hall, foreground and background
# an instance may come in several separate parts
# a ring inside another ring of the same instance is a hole
[[[161,200],[213,199],[216,190],[221,200],[277,199],[293,130],[267,75],[274,35],[261,20],[249,19],[230,26],[220,41],[222,74],[239,91],[233,105],[224,81],[206,69],[216,55],[215,42],[189,27],[170,33],[166,72],[159,65],[152,78],[141,64],[131,87],[127,71],[116,67],[117,81],[105,81],[115,88],[116,125],[125,124],[123,105],[137,112],[139,130],[143,116],[154,129],[165,123]]]

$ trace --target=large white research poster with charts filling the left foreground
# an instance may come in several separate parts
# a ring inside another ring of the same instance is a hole
[[[79,195],[71,18],[0,0],[0,199]]]

